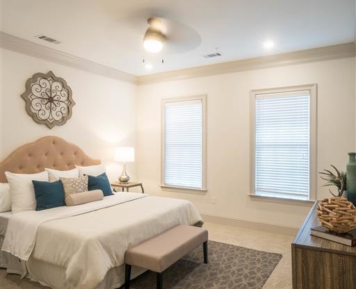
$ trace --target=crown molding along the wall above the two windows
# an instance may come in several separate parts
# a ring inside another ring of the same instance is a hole
[[[351,57],[355,57],[354,42],[138,76],[138,85]]]

